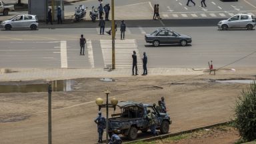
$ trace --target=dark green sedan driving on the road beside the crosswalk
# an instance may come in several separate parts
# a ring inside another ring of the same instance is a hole
[[[146,34],[145,41],[152,43],[155,47],[160,44],[180,44],[185,46],[187,43],[191,43],[192,39],[188,35],[180,35],[169,28],[159,28],[151,34]]]

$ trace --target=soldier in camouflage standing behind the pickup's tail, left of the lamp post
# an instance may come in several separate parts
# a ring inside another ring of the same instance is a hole
[[[98,114],[99,115],[98,115],[98,117],[96,117],[94,122],[97,123],[97,128],[98,128],[98,133],[99,133],[98,143],[102,143],[102,135],[103,135],[103,131],[104,131],[105,125],[106,125],[106,119],[105,119],[105,117],[101,116],[101,111],[99,111]]]

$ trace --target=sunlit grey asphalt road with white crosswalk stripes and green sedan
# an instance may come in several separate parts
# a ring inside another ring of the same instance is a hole
[[[107,30],[109,28],[106,28]],[[116,63],[131,67],[131,54],[136,50],[139,62],[143,51],[148,67],[222,67],[256,51],[255,31],[244,29],[219,31],[217,27],[172,27],[191,35],[192,44],[161,45],[145,43],[144,34],[153,27],[128,27],[125,41],[116,36]],[[99,28],[39,29],[38,31],[0,31],[0,67],[10,68],[103,68],[111,57],[111,37],[99,35]],[[85,55],[79,55],[79,37],[87,39]],[[61,42],[62,41],[62,42]],[[91,42],[91,44],[90,44]],[[62,44],[61,44],[62,43]],[[255,67],[256,55],[249,55],[229,67]]]

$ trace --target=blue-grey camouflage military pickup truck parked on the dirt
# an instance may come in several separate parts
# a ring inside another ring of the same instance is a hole
[[[121,113],[111,115],[112,117],[109,119],[109,135],[110,133],[122,134],[127,136],[129,140],[134,140],[137,138],[138,131],[147,132],[149,129],[149,121],[146,118],[148,109],[156,113],[158,119],[157,129],[160,129],[162,134],[169,132],[170,116],[167,113],[159,113],[155,105],[121,101],[117,106],[120,108]]]

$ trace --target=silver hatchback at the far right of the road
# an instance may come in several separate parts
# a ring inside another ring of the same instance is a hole
[[[233,17],[230,17],[229,19],[219,21],[217,25],[218,28],[222,30],[235,28],[246,28],[251,30],[255,27],[255,18],[253,15],[238,14],[233,15]]]

